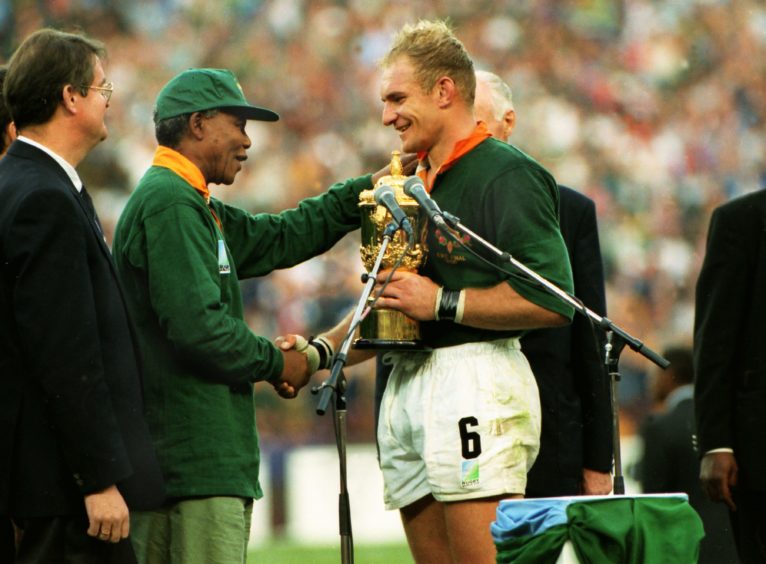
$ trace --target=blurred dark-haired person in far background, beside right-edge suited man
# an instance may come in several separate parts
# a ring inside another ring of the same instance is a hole
[[[644,454],[639,478],[645,493],[684,492],[705,527],[700,543],[700,564],[738,562],[726,508],[707,499],[699,481],[699,456],[694,449],[694,369],[688,347],[662,353],[670,366],[657,370],[654,399],[661,412],[650,416],[641,429]]]

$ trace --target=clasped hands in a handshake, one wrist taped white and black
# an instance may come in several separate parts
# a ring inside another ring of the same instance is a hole
[[[335,349],[325,337],[312,337],[307,341],[300,335],[287,335],[277,337],[274,344],[282,351],[284,368],[271,385],[283,398],[297,397],[314,372],[332,366]]]

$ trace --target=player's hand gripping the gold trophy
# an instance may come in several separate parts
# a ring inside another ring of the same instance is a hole
[[[376,292],[380,291],[388,274],[388,270],[380,271]],[[395,309],[418,321],[430,321],[434,319],[438,289],[439,286],[430,278],[407,270],[397,270],[376,307]]]

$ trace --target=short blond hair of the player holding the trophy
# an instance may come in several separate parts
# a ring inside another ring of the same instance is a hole
[[[476,93],[473,61],[445,21],[420,20],[405,25],[380,65],[385,68],[403,55],[415,67],[415,78],[424,92],[431,92],[441,77],[448,76],[466,103],[473,105]]]

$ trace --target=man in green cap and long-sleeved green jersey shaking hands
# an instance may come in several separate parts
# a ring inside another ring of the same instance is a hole
[[[209,185],[232,184],[247,159],[247,121],[278,117],[250,104],[226,69],[173,77],[156,100],[154,160],[117,223],[114,255],[168,492],[163,507],[134,515],[140,562],[244,562],[262,496],[254,384],[292,397],[320,362],[305,340],[280,350],[253,333],[239,281],[330,249],[359,227],[359,194],[373,182],[350,179],[279,214],[212,197]]]

